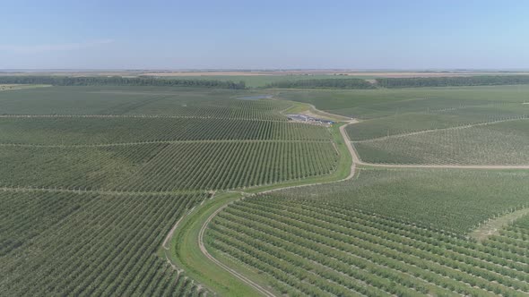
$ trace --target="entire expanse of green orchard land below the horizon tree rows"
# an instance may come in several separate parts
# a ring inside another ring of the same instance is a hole
[[[528,95],[0,92],[0,295],[526,295]]]

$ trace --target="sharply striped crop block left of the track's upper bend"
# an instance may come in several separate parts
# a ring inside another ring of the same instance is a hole
[[[117,190],[234,189],[330,174],[331,142],[170,144]]]

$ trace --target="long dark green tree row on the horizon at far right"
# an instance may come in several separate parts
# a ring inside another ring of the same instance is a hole
[[[529,75],[377,79],[377,85],[383,88],[493,86],[518,84],[529,84]]]

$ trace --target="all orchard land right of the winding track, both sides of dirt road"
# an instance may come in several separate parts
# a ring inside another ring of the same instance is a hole
[[[364,162],[527,165],[527,94],[505,86],[275,95],[360,118],[347,132]],[[529,237],[518,225],[527,216],[481,242],[471,234],[526,214],[528,173],[362,165],[351,181],[237,201],[213,218],[205,242],[215,258],[287,295],[522,296]]]

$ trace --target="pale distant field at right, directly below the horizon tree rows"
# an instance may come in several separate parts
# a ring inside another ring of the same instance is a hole
[[[473,106],[516,103],[522,108],[523,103],[529,101],[529,86],[281,90],[276,97],[310,103],[333,114],[368,120],[408,113],[442,113]]]

